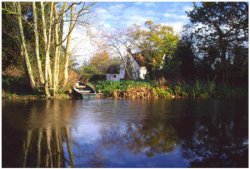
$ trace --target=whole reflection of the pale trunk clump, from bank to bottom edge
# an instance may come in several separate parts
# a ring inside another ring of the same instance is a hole
[[[70,136],[73,102],[19,103],[14,112],[12,104],[6,104],[4,111],[12,111],[3,114],[3,136],[7,136],[3,139],[3,166],[74,167]],[[5,121],[7,118],[11,120]],[[12,140],[9,133],[18,136]],[[18,149],[11,150],[13,145]]]

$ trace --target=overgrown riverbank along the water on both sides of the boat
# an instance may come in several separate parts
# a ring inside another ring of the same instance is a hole
[[[42,92],[32,93],[22,78],[3,78],[3,100],[45,100]],[[99,81],[92,86],[99,93],[98,99],[174,99],[174,98],[234,98],[247,97],[248,89],[230,87],[196,80],[193,83],[166,83],[154,81]],[[65,90],[51,99],[73,99]]]

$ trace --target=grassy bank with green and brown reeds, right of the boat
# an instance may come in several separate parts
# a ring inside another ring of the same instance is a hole
[[[247,88],[216,85],[214,82],[169,83],[164,86],[152,81],[99,81],[96,90],[106,97],[142,98],[230,98],[245,97]]]

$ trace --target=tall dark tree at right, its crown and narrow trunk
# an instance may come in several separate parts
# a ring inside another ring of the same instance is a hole
[[[218,50],[217,62],[222,81],[229,78],[230,51],[235,46],[247,47],[248,41],[248,3],[247,2],[204,2],[187,13],[196,29],[199,47],[208,50],[214,46]],[[206,52],[207,53],[207,52]]]

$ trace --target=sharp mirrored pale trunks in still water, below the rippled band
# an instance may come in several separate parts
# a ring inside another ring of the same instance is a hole
[[[63,148],[66,142],[67,149]],[[69,128],[64,129],[47,127],[42,129],[27,130],[23,140],[23,163],[22,167],[74,167],[73,153],[71,149]],[[65,154],[69,159],[65,158]]]

